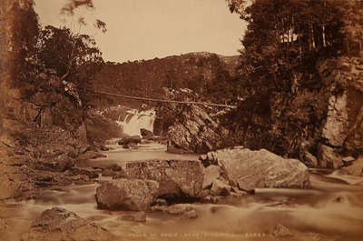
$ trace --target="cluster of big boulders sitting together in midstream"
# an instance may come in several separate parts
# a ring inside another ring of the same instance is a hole
[[[113,168],[116,170],[116,168]],[[267,150],[221,149],[199,160],[148,160],[126,163],[113,180],[97,188],[100,208],[144,211],[165,204],[216,202],[244,196],[255,188],[309,186],[308,168]]]

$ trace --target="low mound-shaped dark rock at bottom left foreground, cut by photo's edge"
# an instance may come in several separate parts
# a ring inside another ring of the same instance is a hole
[[[52,240],[114,240],[115,236],[102,226],[68,212],[64,208],[54,207],[45,210],[37,218],[24,241],[52,241]]]

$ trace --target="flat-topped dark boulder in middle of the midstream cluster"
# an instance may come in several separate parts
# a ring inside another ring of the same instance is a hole
[[[157,181],[158,196],[198,197],[203,170],[196,160],[148,160],[127,163],[123,177]]]

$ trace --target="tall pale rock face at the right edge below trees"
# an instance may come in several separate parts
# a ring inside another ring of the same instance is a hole
[[[329,83],[329,105],[319,144],[319,166],[344,166],[343,156],[363,151],[363,59],[339,57],[319,63]]]

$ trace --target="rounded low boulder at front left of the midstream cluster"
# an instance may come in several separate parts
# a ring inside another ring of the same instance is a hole
[[[157,197],[159,184],[152,180],[115,179],[96,189],[97,206],[109,210],[143,211]]]

